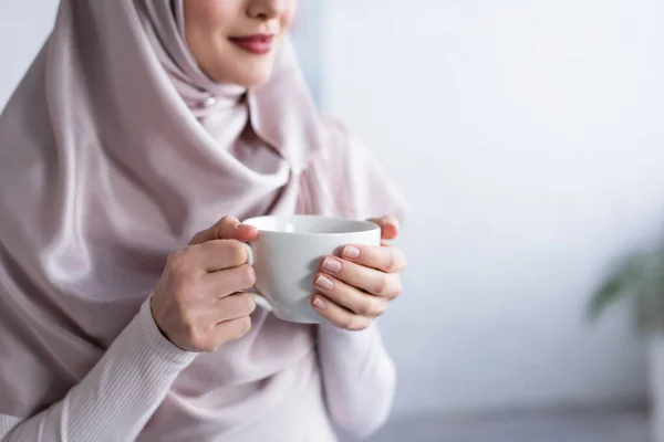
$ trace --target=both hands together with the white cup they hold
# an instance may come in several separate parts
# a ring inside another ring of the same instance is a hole
[[[284,320],[366,328],[401,293],[406,261],[385,242],[397,234],[394,217],[225,217],[170,253],[153,317],[176,346],[210,352],[250,330],[257,302]]]

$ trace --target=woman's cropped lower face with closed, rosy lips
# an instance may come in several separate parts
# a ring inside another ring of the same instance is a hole
[[[217,83],[255,87],[272,73],[297,0],[184,0],[185,34]]]

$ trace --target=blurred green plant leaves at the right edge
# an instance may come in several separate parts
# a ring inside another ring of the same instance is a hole
[[[590,319],[625,297],[633,297],[640,332],[664,332],[664,250],[634,253],[618,263],[590,301]]]

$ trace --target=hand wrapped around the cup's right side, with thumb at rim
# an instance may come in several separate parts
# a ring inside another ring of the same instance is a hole
[[[320,293],[311,297],[311,305],[332,324],[349,330],[369,327],[402,291],[406,259],[385,242],[398,235],[398,221],[391,215],[370,221],[381,227],[383,245],[345,245],[341,257],[325,256],[314,276]]]

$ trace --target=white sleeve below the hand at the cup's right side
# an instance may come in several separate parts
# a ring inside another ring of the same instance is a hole
[[[332,421],[353,438],[366,438],[387,420],[396,386],[377,325],[349,332],[321,324],[318,346]]]

